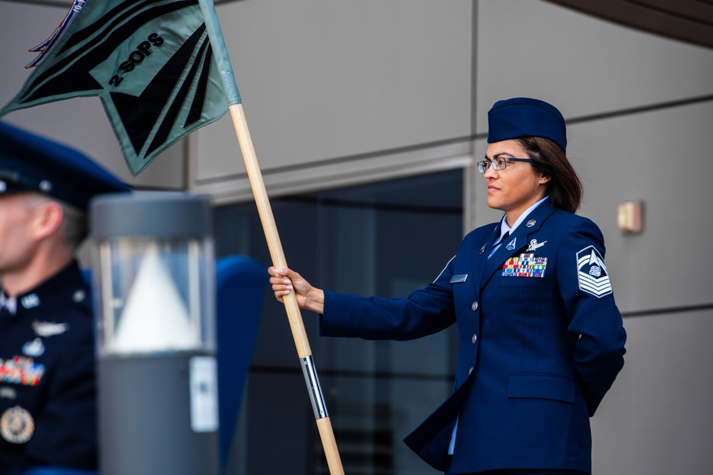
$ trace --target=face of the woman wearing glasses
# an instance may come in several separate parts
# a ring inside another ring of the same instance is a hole
[[[486,160],[497,158],[528,158],[515,140],[488,144]],[[550,177],[536,174],[528,162],[508,162],[505,169],[488,167],[483,175],[488,184],[488,207],[507,214],[508,224],[513,223],[526,209],[545,197]]]

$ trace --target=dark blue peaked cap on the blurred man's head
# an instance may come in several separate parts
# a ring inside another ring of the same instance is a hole
[[[0,195],[39,192],[86,211],[96,194],[129,190],[81,152],[0,121]]]

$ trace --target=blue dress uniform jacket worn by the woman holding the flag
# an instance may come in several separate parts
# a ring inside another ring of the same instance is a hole
[[[545,200],[488,259],[500,224],[469,233],[409,298],[327,291],[322,335],[406,340],[458,325],[453,394],[406,444],[451,473],[591,471],[589,417],[621,370],[625,330],[597,226]]]

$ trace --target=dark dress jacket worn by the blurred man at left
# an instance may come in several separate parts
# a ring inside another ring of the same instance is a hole
[[[76,261],[0,316],[0,473],[96,470],[90,289]]]

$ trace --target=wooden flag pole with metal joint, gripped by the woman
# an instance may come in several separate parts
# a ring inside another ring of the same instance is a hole
[[[267,247],[270,249],[270,256],[272,257],[272,265],[275,268],[287,268],[287,260],[284,259],[284,251],[282,251],[282,244],[279,241],[279,234],[277,234],[275,217],[272,216],[270,200],[267,198],[265,182],[262,180],[262,173],[259,165],[257,165],[255,147],[252,145],[250,131],[247,130],[247,121],[242,110],[240,92],[237,90],[235,75],[232,72],[232,66],[230,66],[230,57],[227,56],[227,48],[220,31],[215,6],[213,6],[212,0],[199,0],[198,3],[200,4],[206,30],[215,53],[215,62],[225,88],[228,109],[235,126],[237,141],[240,143],[242,159],[245,161],[252,194],[255,197],[255,204],[257,204],[257,212],[260,214],[260,221],[262,221],[262,229],[265,231]],[[324,454],[327,456],[329,473],[332,475],[344,475],[342,460],[339,458],[337,442],[334,439],[332,422],[329,421],[327,406],[324,404],[324,397],[322,396],[322,388],[319,386],[317,371],[312,361],[312,350],[309,348],[309,340],[307,340],[307,333],[304,331],[299,305],[297,305],[297,296],[294,295],[294,292],[290,292],[282,298],[282,301],[287,311],[287,320],[289,320],[289,327],[292,330],[294,345],[297,347],[297,355],[300,358],[304,382],[307,384],[307,390],[309,391],[309,399],[312,401],[314,417],[317,419],[317,428],[319,429],[319,437],[322,439]]]

